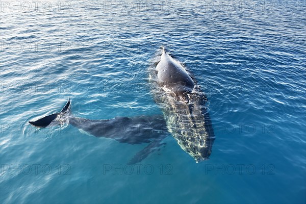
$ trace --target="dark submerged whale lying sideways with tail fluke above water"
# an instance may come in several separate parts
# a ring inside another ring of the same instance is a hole
[[[148,145],[137,152],[127,163],[136,164],[145,159],[160,146],[169,133],[163,115],[115,117],[107,120],[90,120],[74,117],[71,113],[71,101],[68,99],[65,107],[59,113],[54,113],[36,121],[29,121],[36,127],[47,127],[69,122],[74,127],[95,137],[115,139],[121,143]]]

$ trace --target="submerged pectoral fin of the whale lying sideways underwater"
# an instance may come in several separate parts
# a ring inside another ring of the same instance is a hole
[[[165,136],[166,137],[166,136]],[[164,138],[164,137],[163,137]],[[163,139],[162,138],[162,139]],[[165,145],[166,143],[161,143],[161,139],[153,141],[149,143],[146,147],[144,147],[142,150],[138,151],[136,155],[127,163],[128,165],[133,165],[136,163],[141,162],[145,158],[147,158],[151,153],[153,153],[155,150],[158,150],[158,147]]]

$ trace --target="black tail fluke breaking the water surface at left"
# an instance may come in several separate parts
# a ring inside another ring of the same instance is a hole
[[[60,113],[53,113],[51,115],[47,115],[45,117],[42,117],[36,121],[29,121],[30,124],[36,126],[36,127],[46,127],[48,126],[52,121],[57,119],[58,117],[61,117],[62,115],[67,115],[70,113],[70,107],[71,107],[71,102],[70,98],[68,98],[68,101],[64,108],[61,110]]]

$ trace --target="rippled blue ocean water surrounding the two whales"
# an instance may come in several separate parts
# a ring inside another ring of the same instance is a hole
[[[1,1],[1,203],[305,203],[305,1]],[[29,120],[162,114],[148,67],[164,45],[209,99],[196,163],[147,144]]]

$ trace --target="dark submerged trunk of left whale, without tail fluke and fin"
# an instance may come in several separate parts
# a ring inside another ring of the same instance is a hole
[[[163,115],[115,117],[108,120],[69,117],[69,123],[95,137],[112,138],[129,144],[149,143],[167,134]]]

